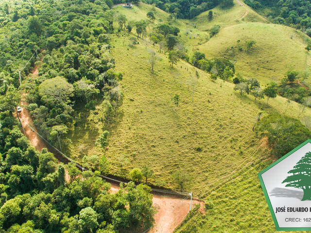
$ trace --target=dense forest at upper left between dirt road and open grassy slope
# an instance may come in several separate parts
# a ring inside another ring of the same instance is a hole
[[[3,90],[16,92],[17,70],[34,52],[38,54],[21,71],[21,77],[27,77],[35,66],[40,67],[39,78],[28,78],[20,88],[27,93],[27,108],[39,133],[61,149],[61,144],[69,142],[64,135],[73,123],[76,107],[95,110],[95,100],[104,99],[99,116],[104,122],[122,98],[118,84],[122,74],[114,70],[108,44],[109,33],[114,31],[114,15],[109,11],[113,2],[34,3],[2,3],[1,32],[6,37],[0,43],[1,84]]]

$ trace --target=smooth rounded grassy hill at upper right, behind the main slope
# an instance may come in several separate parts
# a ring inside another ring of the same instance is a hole
[[[238,73],[268,83],[279,81],[289,69],[310,67],[310,54],[305,50],[303,36],[283,25],[248,22],[222,28],[197,48],[207,58],[225,56],[236,60]],[[250,51],[246,51],[247,40],[257,42]]]

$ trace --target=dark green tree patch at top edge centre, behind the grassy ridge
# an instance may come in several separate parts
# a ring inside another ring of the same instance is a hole
[[[149,3],[146,1],[146,3]],[[156,0],[155,6],[171,13],[176,18],[193,18],[217,5],[223,8],[233,6],[233,0]]]

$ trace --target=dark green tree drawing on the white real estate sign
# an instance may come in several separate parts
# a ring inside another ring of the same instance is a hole
[[[301,200],[311,200],[311,152],[307,152],[288,173],[292,175],[282,183],[288,183],[286,187],[301,188],[303,190]]]

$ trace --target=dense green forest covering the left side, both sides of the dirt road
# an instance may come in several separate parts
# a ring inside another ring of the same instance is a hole
[[[148,186],[128,183],[110,194],[98,173],[64,166],[48,150],[31,147],[14,116],[24,93],[39,133],[60,147],[77,105],[91,110],[101,98],[110,108],[118,106],[122,74],[114,70],[108,43],[112,1],[14,3],[0,5],[0,232],[151,227],[155,210]],[[33,67],[40,67],[39,78],[25,80]]]

